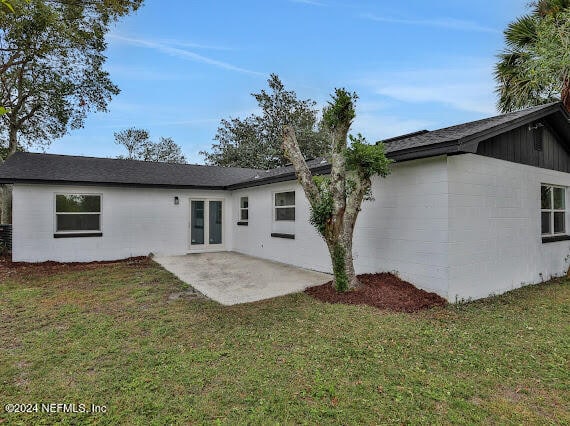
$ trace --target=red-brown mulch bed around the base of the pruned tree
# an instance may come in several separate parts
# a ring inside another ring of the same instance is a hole
[[[305,293],[327,303],[369,305],[398,312],[417,312],[447,304],[447,301],[437,294],[420,290],[387,272],[358,275],[358,279],[363,286],[346,293],[338,293],[333,288],[332,281],[309,287]]]

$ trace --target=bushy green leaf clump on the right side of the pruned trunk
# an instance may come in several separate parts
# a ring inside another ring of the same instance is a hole
[[[349,135],[349,139],[351,145],[346,150],[348,170],[356,171],[364,179],[390,174],[390,164],[393,161],[386,157],[383,144],[369,145],[360,133],[356,137]]]

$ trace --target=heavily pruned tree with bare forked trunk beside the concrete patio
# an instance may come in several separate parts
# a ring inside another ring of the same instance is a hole
[[[323,112],[331,147],[330,177],[312,176],[294,126],[283,129],[283,149],[311,205],[311,223],[327,244],[337,291],[360,286],[352,258],[356,219],[362,202],[372,198],[372,177],[386,177],[390,173],[391,160],[386,158],[382,144],[368,145],[362,135],[348,134],[355,117],[356,99],[355,93],[336,89]]]

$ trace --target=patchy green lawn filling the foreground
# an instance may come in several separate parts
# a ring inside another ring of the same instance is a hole
[[[399,314],[169,301],[153,262],[0,280],[0,423],[570,422],[569,281]],[[42,402],[107,413],[4,412]]]

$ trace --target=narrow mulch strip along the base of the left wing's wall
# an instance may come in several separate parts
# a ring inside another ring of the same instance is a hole
[[[128,259],[121,260],[111,260],[111,261],[99,261],[99,262],[38,262],[38,263],[28,263],[28,262],[12,262],[10,256],[0,256],[0,276],[11,275],[14,273],[30,273],[30,274],[58,274],[67,271],[86,271],[90,269],[96,269],[101,265],[118,265],[126,264],[132,266],[142,266],[148,264],[150,259],[145,256],[141,257],[130,257]]]

